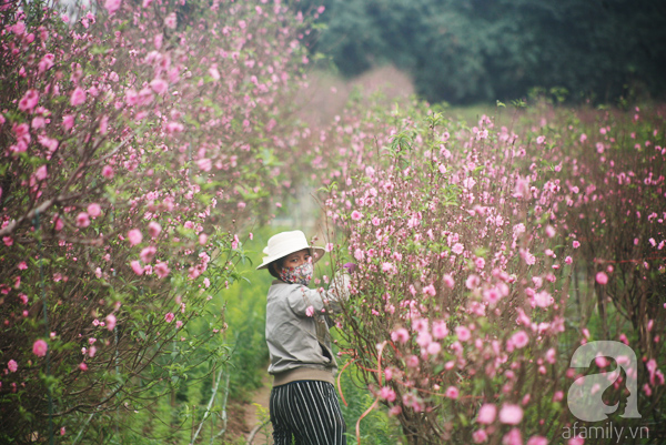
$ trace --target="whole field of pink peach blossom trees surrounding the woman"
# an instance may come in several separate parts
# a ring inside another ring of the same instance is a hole
[[[666,109],[533,100],[470,124],[359,99],[307,128],[312,17],[0,3],[0,442],[231,443],[229,382],[263,366],[241,264],[305,188],[321,284],[359,265],[335,320],[370,395],[350,442],[375,443],[376,408],[389,443],[605,444],[579,429],[601,405],[574,403],[599,398],[625,443],[659,443]],[[598,341],[635,356],[574,366]]]

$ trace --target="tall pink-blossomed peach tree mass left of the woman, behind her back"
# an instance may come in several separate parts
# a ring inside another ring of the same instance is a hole
[[[161,0],[0,22],[0,435],[97,441],[226,358],[220,314],[190,324],[283,193],[307,23]]]

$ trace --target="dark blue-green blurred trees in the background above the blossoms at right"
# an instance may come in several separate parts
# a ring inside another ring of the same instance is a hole
[[[569,100],[663,97],[666,3],[653,0],[303,0],[326,9],[313,52],[352,77],[406,70],[431,102],[558,87]]]

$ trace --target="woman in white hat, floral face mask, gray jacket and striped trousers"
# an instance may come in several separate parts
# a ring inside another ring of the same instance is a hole
[[[329,291],[307,287],[314,263],[324,255],[301,231],[269,240],[258,270],[273,281],[266,299],[266,343],[273,375],[270,413],[275,445],[346,444],[345,424],[333,386],[337,365],[331,350],[327,313],[346,299],[349,274],[336,275]],[[354,265],[345,264],[351,270]]]

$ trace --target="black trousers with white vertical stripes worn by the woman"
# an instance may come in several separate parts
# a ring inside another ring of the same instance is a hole
[[[329,382],[297,381],[271,391],[275,445],[346,445],[337,394]]]

